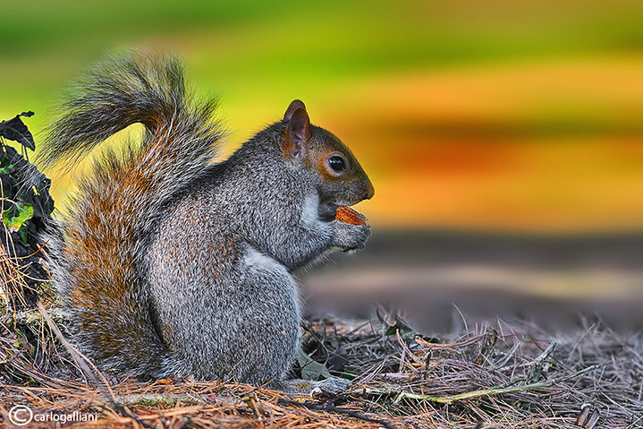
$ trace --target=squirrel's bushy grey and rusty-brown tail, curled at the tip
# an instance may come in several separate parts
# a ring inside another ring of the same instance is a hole
[[[156,220],[216,156],[216,102],[190,96],[173,56],[112,57],[79,82],[48,130],[47,166],[72,165],[110,135],[141,123],[139,148],[107,151],[80,183],[53,236],[55,287],[79,323],[79,342],[104,368],[163,375],[171,365],[143,288]]]

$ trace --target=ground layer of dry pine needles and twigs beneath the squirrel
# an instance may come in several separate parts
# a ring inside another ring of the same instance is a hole
[[[5,284],[19,272],[7,266]],[[46,306],[61,324],[55,302]],[[67,424],[92,428],[643,427],[643,336],[602,322],[554,335],[497,320],[431,339],[384,309],[381,322],[317,319],[305,329],[305,347],[354,380],[342,395],[310,398],[235,382],[106,379],[73,362],[42,312],[0,318],[5,425],[21,404],[97,416]]]

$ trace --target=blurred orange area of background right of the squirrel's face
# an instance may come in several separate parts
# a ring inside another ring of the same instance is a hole
[[[376,223],[640,229],[641,77],[636,55],[404,73],[346,88],[327,122],[372,166]]]

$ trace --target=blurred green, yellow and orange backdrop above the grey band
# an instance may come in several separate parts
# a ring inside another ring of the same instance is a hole
[[[295,98],[376,185],[374,227],[643,229],[643,3],[5,2],[0,117],[41,131],[106,52],[175,51],[226,153]],[[55,176],[63,200],[70,178]]]

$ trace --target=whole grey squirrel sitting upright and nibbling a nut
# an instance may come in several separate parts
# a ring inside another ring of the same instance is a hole
[[[93,69],[49,127],[45,167],[145,126],[139,147],[96,161],[48,237],[74,340],[103,370],[283,380],[300,340],[293,272],[370,234],[334,214],[373,185],[300,100],[218,163],[215,110],[190,94],[176,57],[127,54]]]

